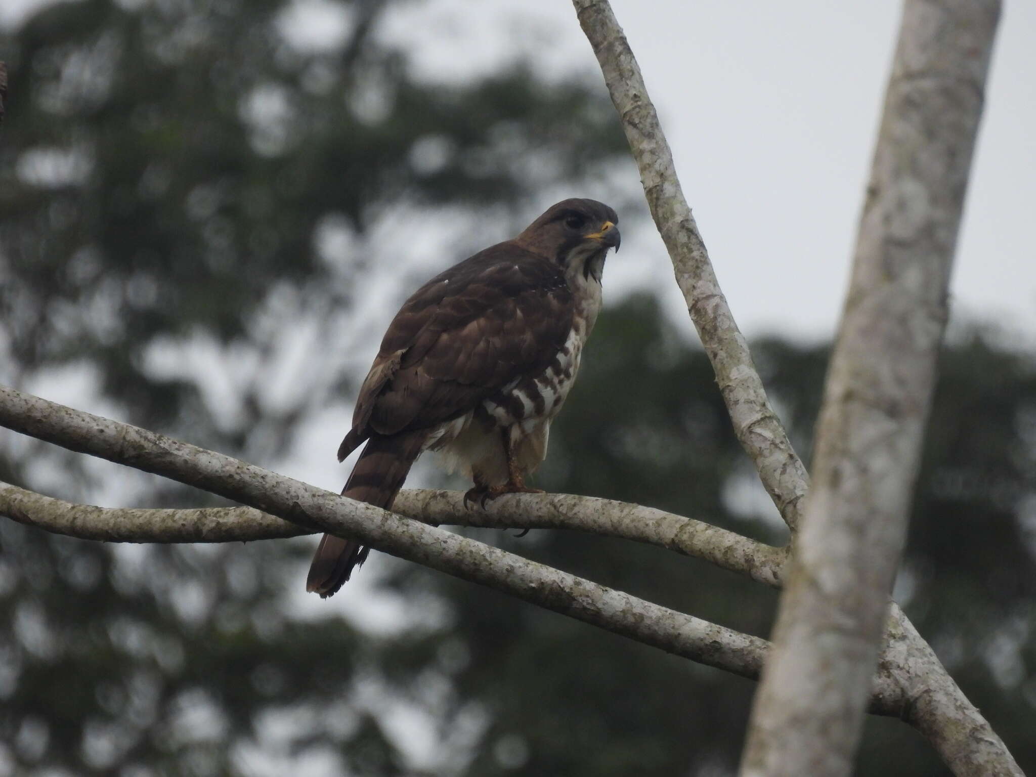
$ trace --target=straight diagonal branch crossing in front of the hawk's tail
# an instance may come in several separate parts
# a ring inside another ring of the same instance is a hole
[[[767,642],[598,585],[445,529],[345,499],[161,434],[0,386],[0,426],[201,488],[311,530],[365,545],[644,644],[755,678]],[[894,685],[884,681],[887,698]]]

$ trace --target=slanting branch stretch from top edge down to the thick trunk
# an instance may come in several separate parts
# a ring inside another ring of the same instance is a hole
[[[648,206],[684,292],[687,310],[716,372],[735,434],[755,462],[762,486],[793,529],[809,477],[770,406],[744,336],[720,290],[709,252],[684,199],[640,67],[606,0],[573,0],[611,102],[640,169]]]

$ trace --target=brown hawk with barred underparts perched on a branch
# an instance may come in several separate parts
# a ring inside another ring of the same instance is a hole
[[[359,388],[338,460],[367,445],[342,493],[388,510],[429,450],[474,481],[465,502],[536,491],[524,478],[575,381],[617,221],[595,200],[565,200],[418,289]],[[324,535],[307,589],[332,596],[369,550]]]

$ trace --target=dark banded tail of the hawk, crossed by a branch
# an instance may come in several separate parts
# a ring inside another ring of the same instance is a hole
[[[424,441],[425,434],[421,432],[372,436],[342,495],[391,510]],[[367,559],[369,552],[370,548],[354,540],[324,535],[310,565],[306,589],[324,598],[333,596],[349,579],[352,570]]]

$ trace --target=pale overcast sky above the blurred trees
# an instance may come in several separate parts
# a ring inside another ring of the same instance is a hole
[[[742,328],[750,336],[776,329],[830,337],[900,3],[613,0],[612,6]],[[995,322],[1031,344],[1036,3],[1005,6],[953,306],[958,320]],[[419,66],[439,77],[464,78],[523,49],[536,51],[549,73],[582,68],[600,79],[568,2],[516,9],[503,0],[440,0],[400,12],[390,32],[409,40],[421,52]],[[623,246],[609,260],[607,292],[661,281],[679,309],[679,292],[659,261],[661,240],[627,228]]]

